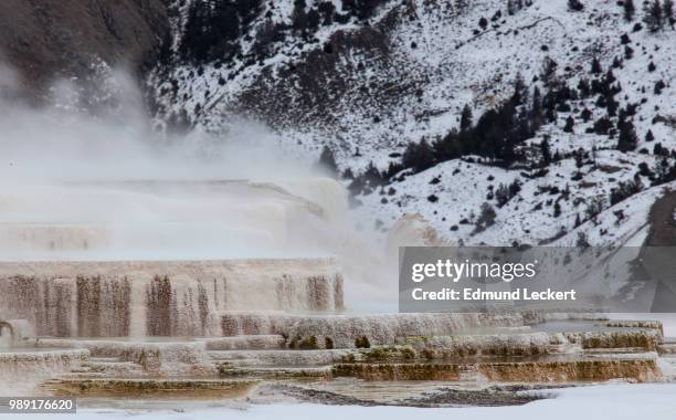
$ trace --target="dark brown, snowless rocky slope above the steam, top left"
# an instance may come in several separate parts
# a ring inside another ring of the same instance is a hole
[[[162,0],[0,2],[0,57],[33,97],[59,77],[87,77],[101,63],[155,65],[169,36]]]

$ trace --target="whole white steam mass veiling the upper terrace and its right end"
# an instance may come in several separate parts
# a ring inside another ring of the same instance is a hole
[[[158,133],[123,73],[103,90],[57,82],[39,107],[0,74],[2,260],[336,255],[348,297],[381,283],[380,246],[352,229],[342,186],[263,126]]]

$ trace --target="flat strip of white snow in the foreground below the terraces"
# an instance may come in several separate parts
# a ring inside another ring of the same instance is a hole
[[[171,419],[171,420],[215,420],[215,419],[411,419],[424,416],[433,419],[646,419],[673,420],[676,418],[676,385],[605,385],[581,388],[549,390],[556,398],[514,407],[458,407],[458,408],[401,408],[401,407],[353,407],[319,405],[268,405],[226,407],[205,405],[177,409],[91,409],[78,413],[44,416],[44,419]],[[159,406],[159,405],[156,405]],[[15,419],[13,414],[0,414],[0,419]],[[19,418],[32,418],[20,416]]]

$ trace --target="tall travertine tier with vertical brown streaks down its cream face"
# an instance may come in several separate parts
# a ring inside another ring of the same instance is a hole
[[[39,336],[218,336],[233,311],[341,308],[330,259],[0,264],[0,313]]]

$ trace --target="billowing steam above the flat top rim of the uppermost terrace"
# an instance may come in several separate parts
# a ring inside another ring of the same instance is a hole
[[[2,179],[216,179],[310,176],[253,122],[228,136],[159,135],[140,91],[113,72],[91,91],[59,81],[46,105],[17,101],[18,76],[0,66]],[[84,104],[84,105],[83,105]],[[86,105],[86,109],[83,109]]]

